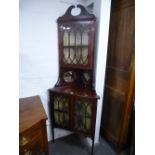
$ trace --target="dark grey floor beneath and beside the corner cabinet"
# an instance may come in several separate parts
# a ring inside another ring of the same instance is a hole
[[[49,142],[49,155],[90,155],[91,147],[84,138],[72,134]],[[94,155],[130,155],[129,149],[118,154],[109,144],[100,138],[100,143],[94,147]]]

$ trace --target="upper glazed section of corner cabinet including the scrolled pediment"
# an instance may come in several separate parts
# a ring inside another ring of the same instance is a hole
[[[65,15],[58,18],[59,54],[61,67],[93,67],[95,22],[94,15],[78,5],[81,13],[71,14],[74,6],[69,7]]]

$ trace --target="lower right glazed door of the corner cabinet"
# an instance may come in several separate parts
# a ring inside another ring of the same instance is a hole
[[[95,128],[94,115],[96,103],[82,98],[76,98],[73,107],[73,129],[85,134],[92,134]]]

